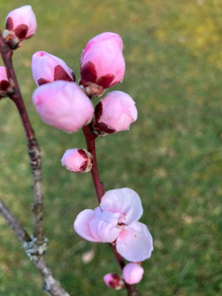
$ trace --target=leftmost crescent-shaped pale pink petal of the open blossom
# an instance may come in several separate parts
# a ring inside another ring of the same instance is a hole
[[[87,241],[99,241],[95,238],[89,228],[89,222],[95,217],[95,213],[91,209],[86,209],[80,212],[74,222],[74,229],[78,235],[82,236]]]

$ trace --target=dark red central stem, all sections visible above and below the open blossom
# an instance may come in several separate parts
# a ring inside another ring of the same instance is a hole
[[[83,130],[83,134],[84,134],[84,137],[86,140],[87,150],[88,150],[88,152],[90,152],[92,154],[92,157],[93,157],[93,164],[92,164],[91,173],[92,173],[94,187],[95,187],[96,193],[97,193],[97,198],[100,203],[101,198],[104,195],[104,185],[100,181],[99,171],[98,171],[98,167],[97,167],[96,145],[95,145],[95,139],[97,138],[97,135],[92,133],[92,131],[90,129],[90,125],[85,125],[82,128],[82,130]],[[119,262],[121,269],[123,269],[123,267],[125,266],[125,262],[124,262],[122,256],[117,252],[117,249],[115,246],[113,246],[112,244],[110,244],[110,246],[113,249],[113,252],[115,253],[115,256],[117,258],[117,261]],[[138,296],[138,291],[134,285],[129,285],[125,282],[125,288],[128,291],[128,296]]]

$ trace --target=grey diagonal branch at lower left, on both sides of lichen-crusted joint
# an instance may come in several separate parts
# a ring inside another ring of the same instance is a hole
[[[0,200],[0,214],[5,218],[10,228],[12,228],[22,243],[31,241],[31,237],[27,231],[22,227],[19,220],[12,215],[2,200]],[[47,266],[44,256],[38,255],[32,262],[42,274],[45,281],[44,289],[49,295],[69,296],[69,294],[61,287],[60,282],[52,275],[51,269]]]

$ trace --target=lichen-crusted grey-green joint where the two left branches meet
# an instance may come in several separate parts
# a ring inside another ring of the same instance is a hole
[[[35,236],[31,236],[31,241],[25,241],[23,243],[25,253],[31,261],[37,261],[38,257],[43,255],[48,248],[48,239],[46,237],[41,245],[37,245],[36,242],[37,238]]]

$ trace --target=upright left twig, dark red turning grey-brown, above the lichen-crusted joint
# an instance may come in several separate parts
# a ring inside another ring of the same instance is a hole
[[[6,45],[2,32],[0,30],[0,53],[2,60],[6,67],[6,72],[10,83],[14,86],[14,92],[9,94],[9,97],[14,101],[26,133],[28,154],[30,157],[31,171],[34,183],[34,236],[37,238],[37,244],[41,245],[44,241],[43,230],[43,196],[41,188],[41,154],[38,142],[35,138],[35,132],[31,126],[31,122],[28,117],[27,109],[23,101],[22,94],[19,89],[19,84],[15,75],[12,55],[13,51]]]

